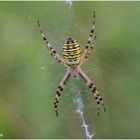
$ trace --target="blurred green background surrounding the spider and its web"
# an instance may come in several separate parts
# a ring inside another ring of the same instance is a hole
[[[104,98],[70,79],[55,116],[55,90],[66,68],[49,55],[36,21],[61,53],[69,36],[82,50],[96,11],[97,41],[82,66]],[[0,2],[1,138],[86,138],[73,98],[81,92],[94,138],[140,138],[140,2]]]

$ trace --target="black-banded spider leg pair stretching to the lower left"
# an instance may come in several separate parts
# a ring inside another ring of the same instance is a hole
[[[55,95],[55,99],[54,99],[54,108],[55,108],[56,116],[58,116],[57,106],[58,106],[59,98],[61,96],[64,86],[65,86],[66,82],[68,81],[70,75],[71,74],[69,72],[66,72],[66,74],[64,75],[62,81],[60,82],[60,84],[56,90],[56,95]]]

